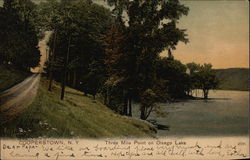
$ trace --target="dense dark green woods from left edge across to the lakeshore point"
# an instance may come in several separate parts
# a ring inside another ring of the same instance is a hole
[[[98,97],[117,113],[140,117],[158,111],[157,102],[191,98],[202,89],[204,99],[219,81],[211,64],[182,64],[173,51],[188,43],[177,27],[189,8],[178,0],[107,0],[113,9],[91,0],[4,0],[0,8],[0,64],[29,70],[39,63],[38,39],[51,31],[46,76],[84,95]],[[160,53],[168,51],[167,57]],[[83,96],[84,96],[83,95]]]

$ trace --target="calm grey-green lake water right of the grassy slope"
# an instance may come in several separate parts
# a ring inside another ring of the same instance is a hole
[[[201,92],[197,94],[201,96]],[[188,100],[159,104],[168,114],[150,115],[148,119],[169,126],[158,136],[246,136],[249,127],[249,92],[210,91],[211,100]],[[139,117],[135,105],[134,116]]]

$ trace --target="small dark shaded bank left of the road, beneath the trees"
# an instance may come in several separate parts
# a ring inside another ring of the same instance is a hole
[[[11,65],[0,65],[0,92],[23,81],[29,73],[19,71]]]

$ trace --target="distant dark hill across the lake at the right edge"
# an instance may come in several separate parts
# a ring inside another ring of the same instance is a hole
[[[249,90],[249,68],[215,69],[223,90]]]

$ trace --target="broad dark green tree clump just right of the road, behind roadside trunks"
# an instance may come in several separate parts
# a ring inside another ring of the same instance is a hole
[[[51,11],[47,11],[45,4],[41,7],[41,13],[51,17],[44,20],[45,26],[54,30],[49,43],[53,57],[48,66],[56,69],[48,71],[62,83],[61,99],[66,85],[80,89],[83,88],[80,82],[90,87],[84,91],[91,90],[95,95],[99,89],[94,89],[93,82],[88,79],[95,73],[91,64],[104,64],[103,35],[110,25],[111,13],[104,7],[79,0],[60,3],[50,0],[49,6]]]

